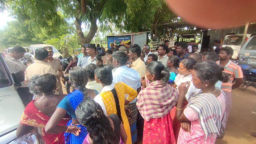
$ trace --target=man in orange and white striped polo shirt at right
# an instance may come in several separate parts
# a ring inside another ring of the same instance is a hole
[[[238,88],[240,85],[244,83],[243,72],[240,66],[235,64],[230,60],[234,53],[234,50],[231,47],[223,47],[220,49],[220,54],[218,55],[219,61],[216,63],[220,65],[221,68],[224,68],[224,71],[230,74],[230,78],[227,83],[221,84],[221,90],[226,94],[226,120],[225,124],[228,120],[228,115],[231,109],[232,98],[231,98],[231,90]],[[233,80],[235,83],[233,84]],[[223,135],[224,136],[224,135]],[[223,138],[223,136],[221,138]]]

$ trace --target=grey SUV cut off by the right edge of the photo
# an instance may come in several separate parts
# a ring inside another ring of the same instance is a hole
[[[241,50],[238,52],[239,60],[242,59],[245,53],[249,53],[249,58],[242,60],[239,64],[246,64],[252,68],[256,68],[256,33],[252,34],[245,42]]]

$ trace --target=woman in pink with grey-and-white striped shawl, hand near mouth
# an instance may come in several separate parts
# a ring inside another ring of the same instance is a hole
[[[215,87],[217,81],[225,82],[228,75],[219,65],[211,61],[197,63],[192,70],[192,82],[199,93],[188,100],[183,109],[183,101],[190,82],[181,83],[176,106],[176,118],[181,122],[178,144],[214,144],[219,132],[225,129],[226,96]]]

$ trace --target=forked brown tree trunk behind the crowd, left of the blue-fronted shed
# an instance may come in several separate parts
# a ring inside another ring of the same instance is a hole
[[[75,26],[76,26],[76,33],[80,40],[81,45],[89,44],[92,41],[92,38],[94,37],[95,33],[97,32],[97,19],[90,20],[90,30],[87,36],[84,36],[84,33],[81,28],[82,21],[76,17],[75,19]]]

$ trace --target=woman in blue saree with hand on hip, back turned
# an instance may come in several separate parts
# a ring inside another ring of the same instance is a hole
[[[80,124],[76,119],[75,110],[82,100],[93,99],[98,92],[85,88],[85,85],[88,82],[88,75],[86,70],[82,67],[72,68],[69,71],[69,80],[76,90],[60,101],[55,112],[46,124],[45,131],[48,133],[65,132],[65,143],[82,144],[88,132],[86,127],[82,126],[82,124]],[[67,123],[68,128],[67,126],[59,126],[59,121],[67,113],[72,117],[72,120]]]

